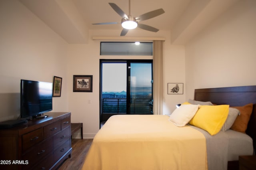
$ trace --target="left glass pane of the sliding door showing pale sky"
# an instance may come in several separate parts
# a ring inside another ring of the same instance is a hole
[[[126,113],[126,63],[102,63],[102,113]]]

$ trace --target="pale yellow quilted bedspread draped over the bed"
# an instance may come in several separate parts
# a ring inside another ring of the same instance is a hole
[[[166,115],[115,115],[98,131],[84,170],[206,170],[206,140]]]

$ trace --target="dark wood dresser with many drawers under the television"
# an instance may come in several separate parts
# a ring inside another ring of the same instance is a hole
[[[56,169],[71,157],[71,113],[44,115],[48,117],[0,130],[1,169]]]

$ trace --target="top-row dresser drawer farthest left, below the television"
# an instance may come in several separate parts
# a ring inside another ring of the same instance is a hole
[[[28,148],[34,146],[35,144],[43,140],[43,128],[39,128],[32,132],[22,135],[22,150],[25,151]]]

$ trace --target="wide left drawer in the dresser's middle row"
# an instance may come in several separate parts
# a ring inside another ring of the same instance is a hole
[[[30,152],[27,152],[22,156],[23,160],[28,160],[29,166],[33,166],[36,162],[42,160],[44,156],[52,154],[53,150],[53,138],[48,138],[43,142],[35,145]]]

